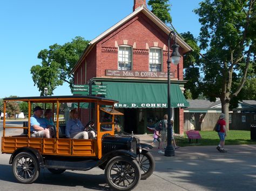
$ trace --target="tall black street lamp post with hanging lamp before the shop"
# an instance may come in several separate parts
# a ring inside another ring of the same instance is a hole
[[[174,36],[174,44],[172,45],[172,55],[170,60],[170,38]],[[170,95],[170,88],[171,88],[171,79],[170,79],[170,70],[171,70],[171,62],[174,65],[178,65],[180,60],[179,54],[179,45],[176,43],[176,34],[171,31],[168,37],[168,59],[167,59],[167,107],[168,107],[168,119],[167,119],[167,145],[165,148],[164,155],[166,157],[174,156],[174,149],[172,146],[172,126],[171,126],[171,95]]]

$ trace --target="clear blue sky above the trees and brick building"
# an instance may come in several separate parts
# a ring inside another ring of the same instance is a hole
[[[170,0],[172,23],[179,33],[199,36],[198,16],[192,12],[199,2]],[[92,40],[129,15],[132,7],[133,0],[0,1],[0,98],[39,96],[30,74],[30,68],[41,63],[39,51],[76,36]],[[71,95],[68,84],[57,87],[53,95]]]

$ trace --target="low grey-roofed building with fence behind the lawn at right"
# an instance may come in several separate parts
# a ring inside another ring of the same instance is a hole
[[[221,113],[219,98],[216,102],[208,100],[187,100],[190,106],[184,109],[184,131],[195,129],[212,131]],[[238,107],[230,111],[230,130],[250,130],[256,122],[256,101],[239,101]]]

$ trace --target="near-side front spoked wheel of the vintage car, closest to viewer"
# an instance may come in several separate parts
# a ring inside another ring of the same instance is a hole
[[[131,190],[140,181],[140,168],[136,160],[125,156],[117,156],[107,162],[105,176],[112,189]]]

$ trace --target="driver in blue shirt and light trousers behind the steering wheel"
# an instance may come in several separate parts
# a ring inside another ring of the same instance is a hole
[[[78,119],[77,109],[72,109],[69,113],[69,121],[66,122],[66,137],[72,139],[93,139],[95,138],[94,131],[84,131],[82,122]]]

